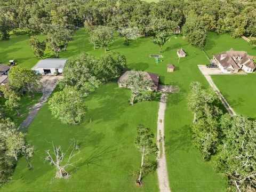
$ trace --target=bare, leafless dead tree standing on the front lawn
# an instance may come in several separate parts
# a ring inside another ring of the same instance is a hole
[[[46,150],[45,161],[50,162],[50,165],[56,167],[56,178],[69,178],[69,173],[66,171],[68,166],[73,166],[77,169],[75,164],[81,160],[78,159],[75,162],[71,162],[73,157],[80,153],[79,147],[74,140],[71,140],[71,145],[68,147],[65,153],[62,152],[61,146],[55,147],[52,142],[53,151]],[[70,151],[71,150],[71,151]],[[69,155],[68,155],[69,153]],[[68,155],[67,159],[65,158]]]

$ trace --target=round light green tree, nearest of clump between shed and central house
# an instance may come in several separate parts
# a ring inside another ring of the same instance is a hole
[[[64,124],[73,125],[81,123],[87,109],[83,94],[72,86],[54,93],[49,100],[49,106],[55,118]]]

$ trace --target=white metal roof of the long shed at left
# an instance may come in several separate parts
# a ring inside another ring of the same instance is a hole
[[[54,68],[54,69],[63,69],[65,66],[65,63],[68,59],[43,59],[36,63],[32,69],[38,69],[38,68]]]

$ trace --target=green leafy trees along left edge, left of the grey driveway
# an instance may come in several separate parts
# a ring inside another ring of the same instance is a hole
[[[9,111],[20,115],[21,96],[39,91],[40,79],[35,71],[16,66],[9,71],[10,83],[0,86],[0,186],[9,180],[20,156],[25,157],[29,169],[32,168],[29,158],[34,154],[34,147],[26,142],[26,133],[17,129],[15,117]]]

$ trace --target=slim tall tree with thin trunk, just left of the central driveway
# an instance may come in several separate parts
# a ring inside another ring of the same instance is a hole
[[[139,170],[139,177],[137,179],[137,185],[141,185],[142,174],[147,173],[150,167],[155,167],[156,162],[151,162],[151,166],[148,166],[149,159],[148,156],[157,155],[158,149],[156,146],[156,139],[154,134],[149,130],[149,128],[139,125],[137,127],[137,137],[135,139],[135,146],[141,153],[141,165]],[[147,164],[147,166],[145,166]]]

